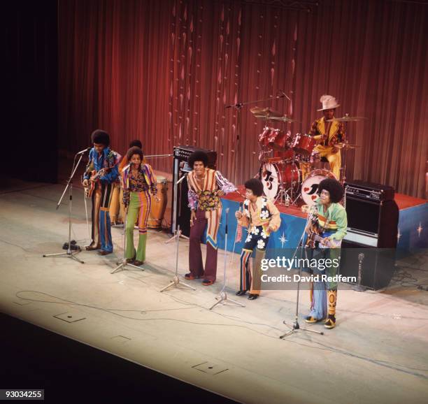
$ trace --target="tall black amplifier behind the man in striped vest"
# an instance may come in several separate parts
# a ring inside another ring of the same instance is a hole
[[[172,209],[171,209],[171,233],[176,231],[180,225],[180,231],[183,236],[190,236],[190,208],[187,201],[187,180],[182,180],[178,185],[177,181],[183,178],[183,175],[192,171],[192,167],[187,164],[190,154],[196,151],[206,152],[208,154],[208,167],[217,168],[217,152],[213,150],[204,150],[193,146],[175,146],[173,150],[173,190],[172,190]]]

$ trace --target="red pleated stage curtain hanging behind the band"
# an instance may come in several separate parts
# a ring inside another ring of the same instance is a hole
[[[64,150],[106,129],[118,152],[141,138],[146,154],[189,144],[219,153],[242,183],[259,170],[263,123],[236,101],[285,91],[272,106],[299,123],[321,116],[322,94],[345,113],[348,178],[425,195],[427,6],[404,1],[323,0],[313,13],[245,1],[59,2],[59,135]],[[171,170],[171,159],[153,166]]]

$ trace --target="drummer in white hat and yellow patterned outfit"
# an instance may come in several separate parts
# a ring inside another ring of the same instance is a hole
[[[309,134],[319,142],[314,151],[318,152],[321,158],[325,157],[329,161],[331,171],[336,179],[339,180],[341,150],[336,145],[345,141],[345,129],[342,122],[334,119],[334,111],[340,105],[331,95],[323,95],[320,98],[320,102],[322,103],[322,108],[318,111],[322,111],[324,116],[313,122]],[[327,120],[331,122],[326,122]]]

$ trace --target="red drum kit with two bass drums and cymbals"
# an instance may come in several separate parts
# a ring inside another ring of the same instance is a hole
[[[297,205],[299,199],[306,205],[313,205],[317,199],[318,185],[325,178],[336,178],[325,169],[318,168],[321,159],[315,152],[316,141],[308,134],[295,134],[290,131],[276,129],[268,125],[272,122],[296,122],[296,120],[278,113],[271,108],[250,108],[251,113],[258,119],[266,121],[265,127],[259,134],[259,178],[262,180],[264,194],[274,203],[286,206]],[[345,115],[335,120],[339,122],[355,122],[362,117]],[[329,121],[327,121],[329,122]],[[359,147],[347,142],[338,143],[336,147],[345,151]],[[344,157],[343,161],[346,161]],[[345,171],[345,165],[342,173]],[[345,175],[341,181],[344,182]]]

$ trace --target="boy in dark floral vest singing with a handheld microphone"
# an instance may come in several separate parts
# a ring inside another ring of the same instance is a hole
[[[262,259],[266,254],[266,246],[269,236],[273,231],[277,231],[281,224],[280,212],[273,202],[263,194],[262,181],[252,178],[245,182],[245,199],[243,212],[235,212],[238,224],[248,227],[248,236],[245,240],[241,253],[241,285],[236,292],[238,296],[243,296],[250,291],[250,300],[259,297]],[[255,261],[252,266],[252,274],[249,270],[249,261],[253,250],[255,251]]]

